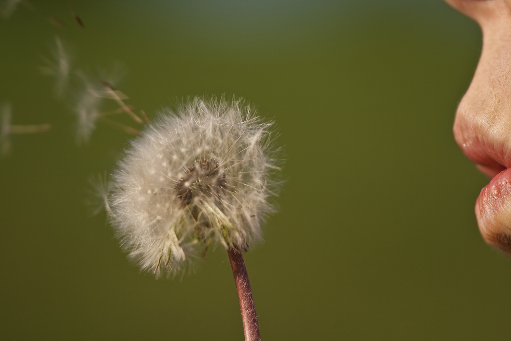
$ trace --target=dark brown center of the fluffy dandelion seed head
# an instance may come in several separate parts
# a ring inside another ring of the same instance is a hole
[[[216,160],[198,160],[184,171],[184,176],[174,187],[183,207],[195,197],[218,196],[225,189],[225,174]]]

